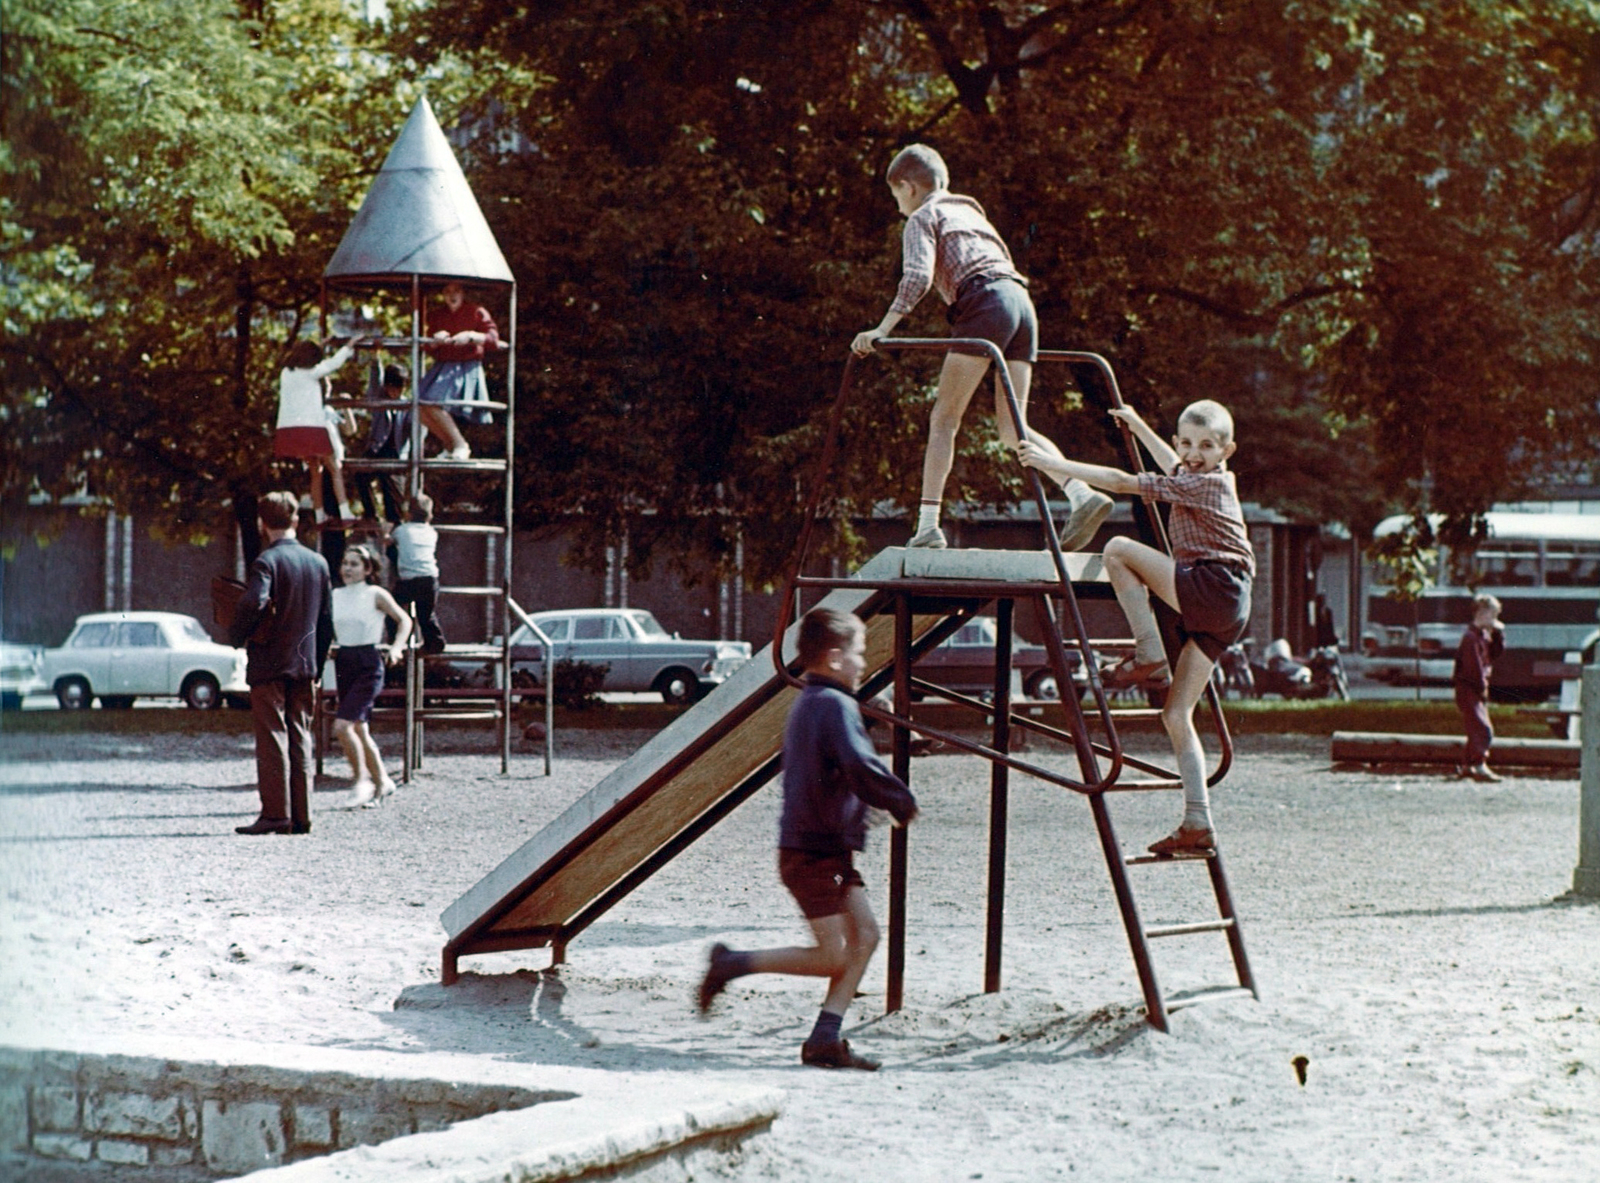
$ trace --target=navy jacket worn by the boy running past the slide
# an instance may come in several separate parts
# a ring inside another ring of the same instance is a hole
[[[784,810],[778,845],[840,855],[867,844],[867,807],[906,821],[917,808],[867,738],[861,708],[838,682],[806,674],[784,728]]]

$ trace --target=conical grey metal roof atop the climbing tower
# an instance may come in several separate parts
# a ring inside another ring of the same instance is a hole
[[[512,283],[490,224],[427,99],[418,99],[333,253],[325,279]]]

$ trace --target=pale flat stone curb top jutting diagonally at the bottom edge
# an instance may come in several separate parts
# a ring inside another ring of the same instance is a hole
[[[782,1108],[782,1093],[776,1089],[707,1085],[704,1092],[688,1103],[680,1097],[651,1105],[637,1095],[550,1101],[242,1178],[253,1183],[554,1183],[755,1133]]]

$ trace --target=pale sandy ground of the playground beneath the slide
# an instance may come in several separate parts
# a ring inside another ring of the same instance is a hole
[[[1245,740],[1214,808],[1261,1001],[1179,1010],[1163,1036],[1085,802],[1027,778],[1005,989],[981,993],[987,768],[917,759],[906,1007],[882,1015],[880,952],[846,1033],[885,1069],[837,1074],[798,1066],[814,981],[746,978],[709,1020],[690,1010],[714,940],[802,936],[774,789],[560,970],[501,954],[438,984],[438,912],[645,738],[568,732],[554,776],[518,756],[501,778],[464,735],[382,808],[336,810],[330,778],[312,836],[245,839],[248,736],[3,733],[0,1039],[139,1031],[178,1055],[221,1036],[786,1089],[720,1173],[738,1180],[1600,1178],[1600,904],[1562,898],[1576,780],[1334,773],[1326,740]],[[1128,848],[1176,812],[1114,800]],[[880,916],[885,847],[864,868]],[[1200,864],[1133,874],[1147,922],[1213,914]],[[1155,957],[1170,994],[1230,981],[1216,933]]]

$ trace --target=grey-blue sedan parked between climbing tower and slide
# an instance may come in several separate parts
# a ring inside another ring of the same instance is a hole
[[[643,608],[536,612],[531,620],[557,661],[606,666],[602,692],[654,690],[666,703],[691,703],[750,660],[744,640],[685,640]],[[523,624],[510,636],[512,674],[544,677],[544,647]]]

